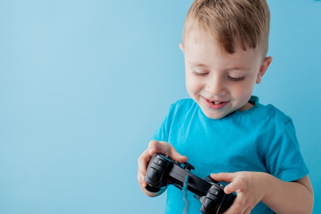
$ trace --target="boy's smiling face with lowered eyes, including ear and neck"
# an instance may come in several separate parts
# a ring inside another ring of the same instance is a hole
[[[223,53],[204,37],[195,42],[186,37],[184,46],[186,88],[208,118],[221,119],[235,110],[247,110],[255,83],[260,83],[272,57],[262,59],[255,49],[237,48]]]

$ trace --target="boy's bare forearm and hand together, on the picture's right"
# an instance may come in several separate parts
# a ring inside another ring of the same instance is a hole
[[[308,176],[293,182],[279,180],[264,172],[248,171],[211,174],[211,177],[230,183],[225,187],[225,193],[237,193],[225,214],[248,214],[260,201],[277,214],[312,213],[313,189]]]

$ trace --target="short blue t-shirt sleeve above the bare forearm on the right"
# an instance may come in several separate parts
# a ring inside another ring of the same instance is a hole
[[[309,173],[300,152],[292,120],[280,131],[267,156],[266,164],[273,176],[287,182],[303,178]]]

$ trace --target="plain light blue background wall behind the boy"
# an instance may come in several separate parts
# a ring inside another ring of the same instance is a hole
[[[191,2],[0,1],[0,213],[164,213],[137,158],[188,98]],[[321,2],[268,2],[274,60],[254,94],[294,120],[321,213]]]

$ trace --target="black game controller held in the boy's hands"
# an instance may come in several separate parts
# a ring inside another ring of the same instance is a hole
[[[146,189],[158,192],[168,185],[183,189],[184,184],[187,184],[187,190],[193,192],[194,197],[202,204],[200,211],[203,214],[220,214],[233,204],[236,196],[234,193],[225,194],[224,185],[214,181],[210,176],[201,179],[190,172],[194,169],[191,164],[183,165],[184,167],[164,154],[155,153],[148,162]]]

